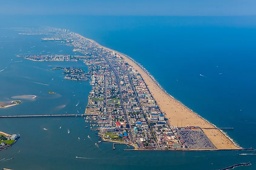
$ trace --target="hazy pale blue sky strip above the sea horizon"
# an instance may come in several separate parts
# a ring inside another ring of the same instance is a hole
[[[256,0],[0,0],[0,14],[256,15]]]

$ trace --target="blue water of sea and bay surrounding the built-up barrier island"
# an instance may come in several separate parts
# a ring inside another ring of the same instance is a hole
[[[15,57],[28,51],[74,54],[73,48],[57,42],[40,42],[42,35],[19,35],[17,31],[4,29],[61,27],[131,56],[151,72],[169,94],[216,126],[234,127],[226,132],[243,148],[256,148],[256,17],[70,15],[0,16],[0,19],[0,70],[5,69],[0,72],[0,101],[17,95],[37,95],[33,101],[1,109],[0,115],[85,110],[91,90],[89,83],[64,80],[61,70],[49,70],[56,66],[87,70],[82,62],[33,62]],[[12,63],[14,61],[22,62]],[[57,94],[49,95],[48,91]],[[125,146],[113,150],[111,143],[96,147],[94,143],[98,138],[85,126],[82,118],[75,117],[1,119],[0,131],[19,133],[21,138],[13,147],[0,151],[0,160],[15,158],[0,161],[0,169],[215,170],[242,162],[252,165],[236,169],[256,167],[256,155],[239,155],[254,154],[253,151],[126,152],[122,151]]]

